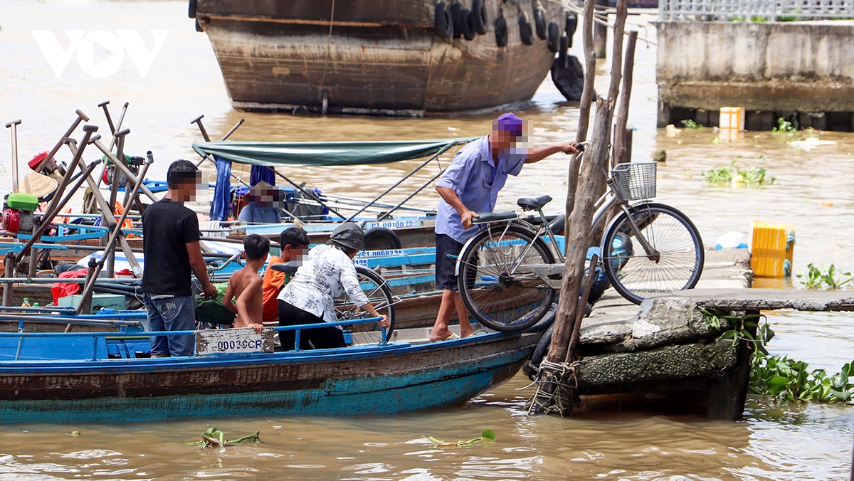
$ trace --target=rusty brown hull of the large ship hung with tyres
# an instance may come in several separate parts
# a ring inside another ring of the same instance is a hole
[[[471,7],[473,0],[464,0]],[[486,0],[488,32],[441,38],[436,0],[198,0],[231,103],[237,109],[422,114],[528,100],[552,66],[548,42],[520,36],[532,3]],[[565,14],[542,3],[564,31]],[[499,7],[507,44],[499,47]],[[546,23],[547,23],[546,22]]]

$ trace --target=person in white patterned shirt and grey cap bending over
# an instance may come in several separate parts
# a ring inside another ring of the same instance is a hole
[[[344,292],[374,317],[389,327],[389,317],[377,313],[362,292],[353,258],[365,248],[365,232],[353,222],[344,222],[329,237],[329,242],[308,251],[308,260],[297,269],[294,279],[278,295],[278,323],[281,326],[335,322],[335,299]],[[290,336],[288,335],[290,333]],[[279,332],[282,349],[293,350],[293,331]],[[301,331],[300,349],[342,348],[340,327],[322,327]]]

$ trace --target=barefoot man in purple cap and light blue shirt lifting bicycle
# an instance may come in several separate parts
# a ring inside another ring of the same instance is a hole
[[[524,164],[541,161],[558,152],[575,154],[578,151],[575,142],[519,148],[517,144],[526,141],[525,128],[525,121],[516,114],[501,115],[494,120],[489,135],[466,144],[457,152],[436,182],[436,191],[442,197],[436,212],[436,289],[442,290],[442,301],[436,324],[430,331],[430,341],[457,337],[447,328],[454,310],[459,317],[462,337],[472,333],[469,314],[459,296],[454,275],[456,256],[465,241],[477,234],[471,219],[478,217],[478,212],[493,211],[507,176],[517,176]]]

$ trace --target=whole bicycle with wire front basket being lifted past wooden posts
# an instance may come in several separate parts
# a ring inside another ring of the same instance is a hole
[[[693,288],[705,261],[703,241],[693,222],[676,208],[649,202],[656,194],[655,181],[656,162],[613,167],[591,222],[595,231],[611,208],[618,209],[605,228],[596,267],[635,304],[649,296]],[[518,199],[519,207],[539,214],[531,221],[512,211],[472,219],[484,228],[460,250],[456,273],[465,307],[483,326],[522,331],[551,308],[565,261],[557,238],[563,232],[564,215],[549,222],[542,213],[551,200]],[[632,201],[641,202],[629,204]]]

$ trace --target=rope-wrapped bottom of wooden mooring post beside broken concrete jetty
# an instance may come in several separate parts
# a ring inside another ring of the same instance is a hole
[[[536,374],[534,396],[528,405],[528,414],[560,414],[561,417],[572,414],[575,392],[578,388],[576,367],[580,362],[552,362],[543,359]]]

